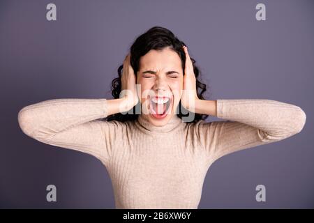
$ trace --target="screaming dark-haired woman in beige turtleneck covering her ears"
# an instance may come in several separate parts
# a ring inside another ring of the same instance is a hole
[[[291,137],[306,122],[300,107],[275,100],[204,100],[195,60],[160,26],[135,40],[118,73],[114,99],[46,100],[18,115],[29,137],[103,162],[117,208],[197,208],[215,160]]]

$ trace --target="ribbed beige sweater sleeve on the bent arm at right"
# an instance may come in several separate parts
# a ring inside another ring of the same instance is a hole
[[[225,121],[200,121],[197,125],[198,137],[211,161],[291,137],[306,123],[300,107],[267,99],[217,100],[217,117]]]

